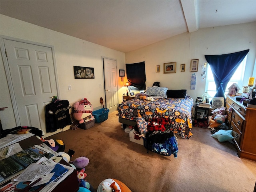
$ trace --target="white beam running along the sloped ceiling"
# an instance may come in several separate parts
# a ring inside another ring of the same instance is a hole
[[[198,30],[197,0],[180,0],[188,32]]]

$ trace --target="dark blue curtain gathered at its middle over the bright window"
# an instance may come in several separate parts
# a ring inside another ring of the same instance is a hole
[[[228,82],[248,52],[249,49],[223,55],[205,55],[207,62],[211,66],[216,84],[217,93],[214,97],[225,96],[224,92]]]

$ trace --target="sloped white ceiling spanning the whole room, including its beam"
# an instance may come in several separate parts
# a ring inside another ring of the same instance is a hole
[[[130,52],[199,28],[256,21],[256,0],[0,0],[0,14]]]

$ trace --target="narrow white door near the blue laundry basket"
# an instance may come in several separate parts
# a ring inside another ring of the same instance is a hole
[[[103,58],[106,108],[114,112],[118,107],[116,61]]]

